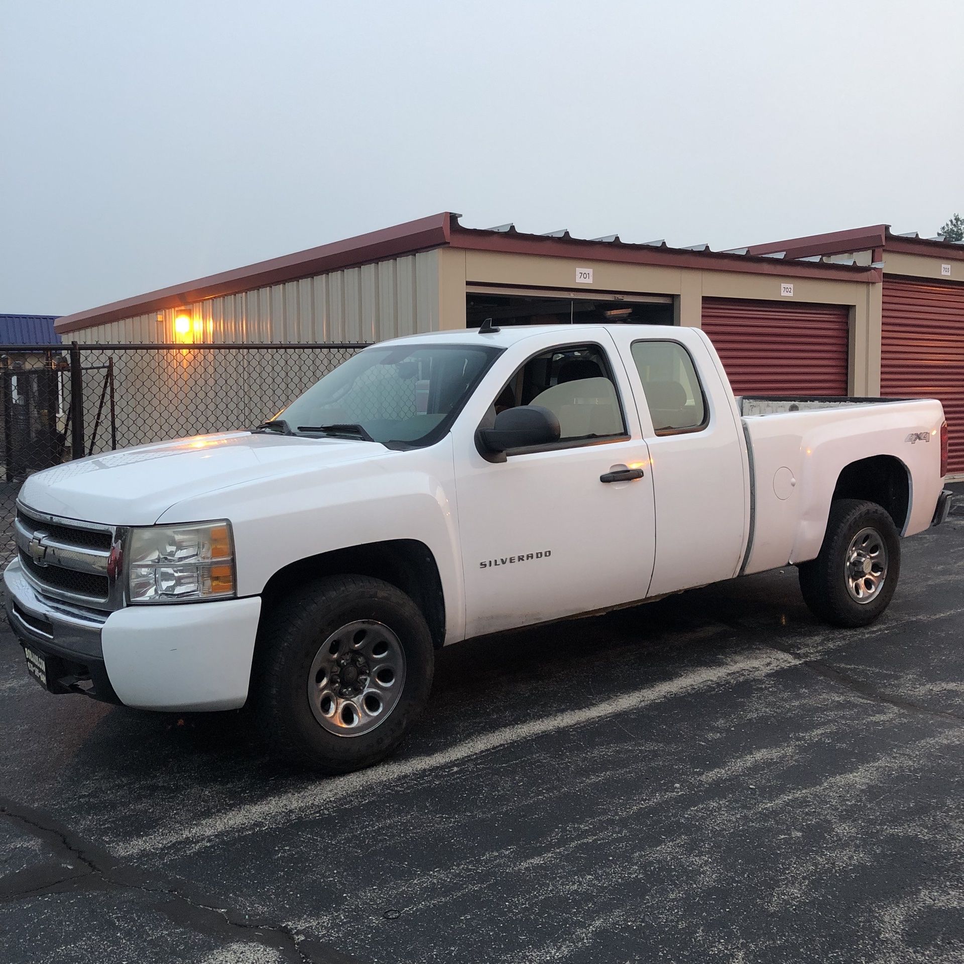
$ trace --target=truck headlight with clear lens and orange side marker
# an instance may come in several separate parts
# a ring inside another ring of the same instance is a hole
[[[127,547],[131,603],[178,603],[234,595],[231,523],[132,528]]]

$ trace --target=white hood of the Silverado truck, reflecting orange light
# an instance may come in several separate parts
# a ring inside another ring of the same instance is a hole
[[[268,432],[201,435],[106,452],[31,475],[19,500],[52,516],[151,525],[172,505],[269,475],[393,454],[377,442]]]

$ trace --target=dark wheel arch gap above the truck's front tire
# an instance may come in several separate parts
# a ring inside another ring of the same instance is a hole
[[[261,591],[261,619],[285,595],[322,576],[384,579],[412,599],[425,617],[436,649],[445,639],[442,577],[432,550],[415,539],[388,539],[306,556],[283,566]]]

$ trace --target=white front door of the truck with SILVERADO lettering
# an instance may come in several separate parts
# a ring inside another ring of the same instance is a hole
[[[611,338],[580,334],[514,345],[453,427],[469,636],[646,596],[655,544],[646,443]],[[524,405],[558,417],[559,441],[483,458],[479,425]]]

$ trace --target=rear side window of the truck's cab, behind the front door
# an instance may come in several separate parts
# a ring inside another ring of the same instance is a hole
[[[657,436],[700,432],[710,421],[696,366],[679,341],[634,341],[630,347]]]

